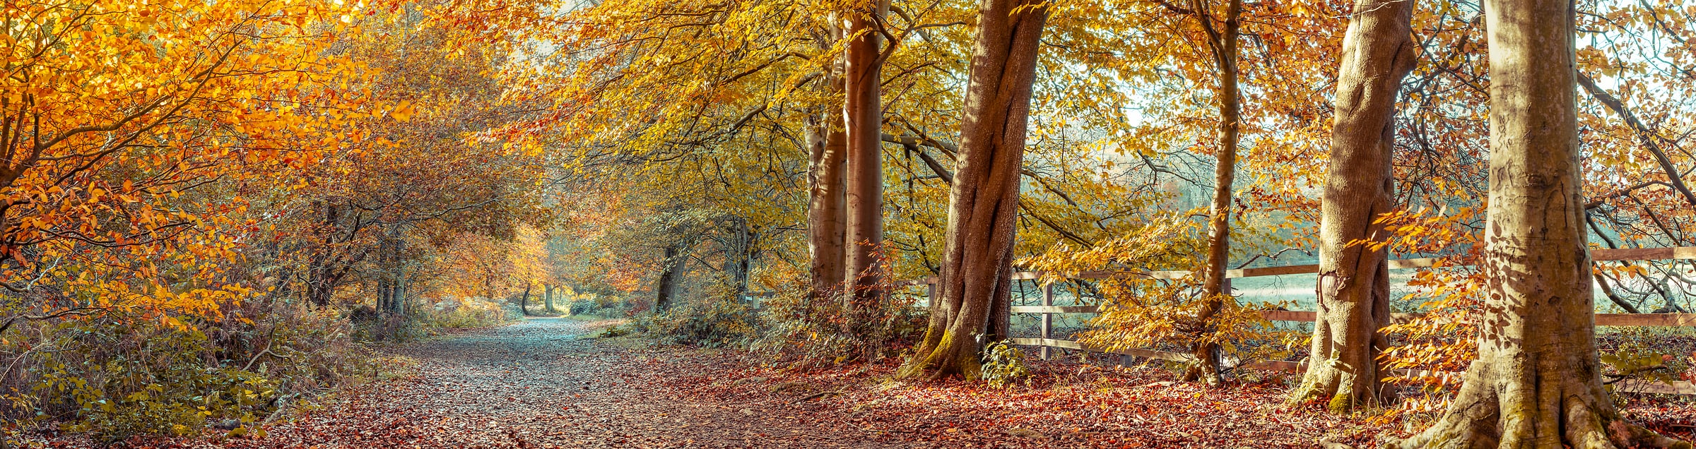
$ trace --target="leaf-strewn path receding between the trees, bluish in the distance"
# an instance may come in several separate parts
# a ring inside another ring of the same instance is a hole
[[[887,447],[809,425],[806,405],[680,398],[644,359],[585,339],[595,327],[533,319],[393,352],[417,374],[227,447]],[[823,425],[823,424],[821,424]]]

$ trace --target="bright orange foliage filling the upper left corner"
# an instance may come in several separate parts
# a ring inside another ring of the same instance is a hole
[[[356,5],[7,3],[0,41],[0,281],[53,285],[105,308],[217,313],[246,295],[222,213],[344,107],[334,36],[312,17]],[[22,124],[29,124],[27,127]],[[161,315],[166,322],[175,320]]]

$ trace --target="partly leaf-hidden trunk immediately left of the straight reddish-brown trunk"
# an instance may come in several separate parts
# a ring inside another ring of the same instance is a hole
[[[841,29],[831,27],[831,39],[841,39]],[[821,42],[831,47],[833,42]],[[831,93],[843,91],[841,58],[828,69],[826,85]],[[807,251],[812,254],[812,295],[826,298],[843,286],[846,273],[846,227],[843,171],[848,158],[848,132],[836,114],[814,114],[807,119]]]

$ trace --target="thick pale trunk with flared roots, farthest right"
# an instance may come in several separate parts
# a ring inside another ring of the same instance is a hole
[[[1596,359],[1572,0],[1487,0],[1491,154],[1479,359],[1399,447],[1691,447],[1626,424]]]

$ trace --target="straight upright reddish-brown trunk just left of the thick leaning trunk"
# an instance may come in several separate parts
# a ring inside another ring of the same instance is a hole
[[[843,276],[853,285],[848,298],[873,298],[877,291],[877,249],[884,242],[884,105],[879,98],[882,76],[879,66],[879,17],[884,5],[873,10],[848,12],[848,54],[843,73],[843,127],[848,130],[846,149],[846,264]],[[851,300],[850,300],[851,303]],[[850,307],[851,310],[851,307]]]

